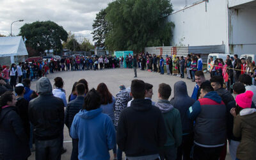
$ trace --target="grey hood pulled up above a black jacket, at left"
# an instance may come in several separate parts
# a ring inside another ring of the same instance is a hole
[[[41,77],[36,83],[36,92],[40,93],[52,93],[52,84],[47,77]]]

